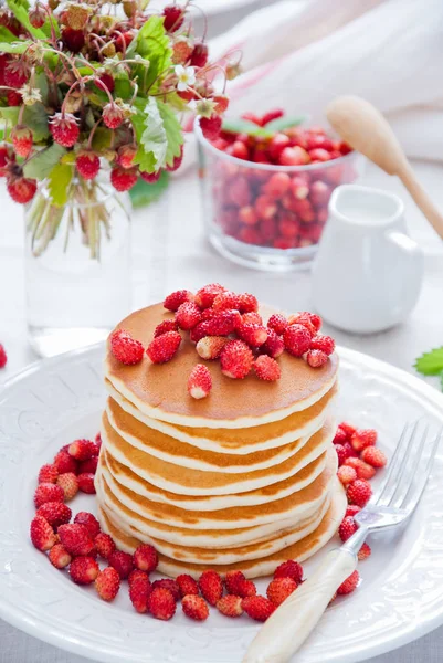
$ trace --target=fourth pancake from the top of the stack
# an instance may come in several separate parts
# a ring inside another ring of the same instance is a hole
[[[102,419],[102,440],[112,455],[141,478],[156,486],[184,495],[226,495],[243,493],[277,483],[293,476],[318,457],[333,440],[334,425],[326,422],[293,456],[265,470],[230,474],[201,472],[168,463],[128,444],[109,424],[106,412]]]

